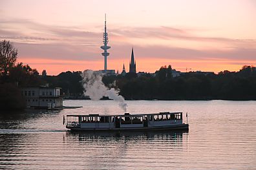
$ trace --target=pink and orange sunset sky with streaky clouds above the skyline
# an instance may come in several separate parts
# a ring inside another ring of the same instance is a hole
[[[18,61],[40,73],[103,69],[104,15],[108,69],[162,65],[194,71],[256,65],[256,1],[0,0],[0,39],[14,42]],[[182,69],[177,69],[186,71]]]

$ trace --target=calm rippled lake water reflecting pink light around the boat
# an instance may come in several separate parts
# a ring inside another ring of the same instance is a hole
[[[256,169],[256,101],[127,101],[131,113],[188,112],[189,133],[70,133],[66,114],[120,114],[114,101],[0,114],[0,169]]]

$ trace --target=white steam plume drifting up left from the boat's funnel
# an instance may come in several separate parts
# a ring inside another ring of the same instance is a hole
[[[107,96],[114,101],[118,101],[123,111],[127,111],[127,103],[125,103],[123,96],[118,94],[119,90],[105,87],[102,82],[103,74],[85,70],[81,76],[83,77],[82,83],[85,89],[83,93],[85,96],[90,96],[91,100],[100,100],[103,96]]]

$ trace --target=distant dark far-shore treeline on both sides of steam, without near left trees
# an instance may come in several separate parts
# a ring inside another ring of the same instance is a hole
[[[242,67],[239,72],[225,70],[219,74],[185,72],[173,77],[171,66],[155,74],[127,73],[125,76],[103,76],[103,83],[120,89],[125,100],[256,100],[256,69]],[[41,80],[61,87],[64,96],[83,98],[81,72],[62,72]]]

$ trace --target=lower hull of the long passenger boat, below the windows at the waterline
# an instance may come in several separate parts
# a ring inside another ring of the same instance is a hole
[[[156,127],[120,127],[120,128],[81,128],[81,127],[69,127],[67,129],[71,131],[188,131],[188,124],[180,124],[180,125],[165,125],[165,126],[156,126]]]

